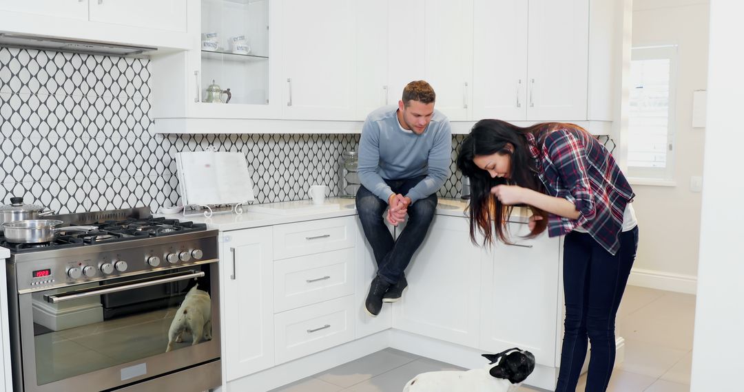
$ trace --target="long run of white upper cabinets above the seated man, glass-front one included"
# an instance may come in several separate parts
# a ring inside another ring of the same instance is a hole
[[[614,120],[615,1],[193,1],[191,49],[151,63],[157,132],[357,133],[416,79],[452,121]]]

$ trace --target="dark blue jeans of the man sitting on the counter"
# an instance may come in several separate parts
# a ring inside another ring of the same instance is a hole
[[[424,177],[385,180],[385,183],[393,192],[405,195]],[[381,200],[364,186],[359,187],[359,191],[356,192],[356,211],[359,213],[359,220],[362,221],[365,237],[372,246],[377,262],[377,275],[383,281],[396,284],[403,276],[405,267],[411,262],[414,252],[426,237],[426,232],[429,231],[434,209],[437,208],[437,195],[429,195],[408,206],[408,223],[397,241],[393,240],[393,235],[385,226],[382,214],[387,208],[388,200]]]

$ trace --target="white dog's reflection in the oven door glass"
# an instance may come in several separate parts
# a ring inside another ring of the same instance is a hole
[[[170,322],[166,353],[173,350],[176,343],[183,342],[184,333],[191,334],[192,346],[202,339],[212,339],[212,301],[209,293],[197,289],[198,286],[188,290],[176,317]]]

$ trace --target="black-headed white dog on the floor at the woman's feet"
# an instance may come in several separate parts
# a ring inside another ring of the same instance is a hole
[[[535,370],[535,357],[519,348],[483,356],[490,361],[485,368],[421,373],[403,392],[507,392]]]

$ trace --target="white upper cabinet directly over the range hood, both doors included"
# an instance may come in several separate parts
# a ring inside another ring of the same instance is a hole
[[[190,1],[0,0],[0,26],[6,33],[184,50]]]

